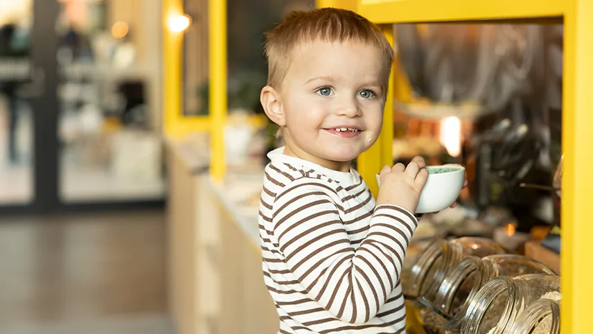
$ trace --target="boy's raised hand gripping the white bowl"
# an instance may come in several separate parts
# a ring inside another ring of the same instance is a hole
[[[403,164],[396,164],[392,168],[384,166],[380,173],[381,185],[377,205],[393,204],[414,213],[422,188],[428,179],[425,166],[422,157],[414,157],[407,167]]]

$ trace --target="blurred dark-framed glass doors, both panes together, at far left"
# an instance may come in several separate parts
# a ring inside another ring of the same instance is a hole
[[[160,0],[0,0],[0,215],[162,206]]]

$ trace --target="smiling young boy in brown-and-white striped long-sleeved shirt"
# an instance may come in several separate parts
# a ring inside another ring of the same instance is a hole
[[[260,100],[285,139],[268,155],[259,215],[280,333],[402,333],[425,162],[385,166],[376,202],[351,168],[379,136],[393,49],[360,15],[324,8],[286,17],[265,55]]]

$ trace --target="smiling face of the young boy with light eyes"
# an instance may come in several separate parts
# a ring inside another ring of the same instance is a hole
[[[278,105],[285,154],[347,171],[379,136],[386,96],[383,55],[360,42],[296,49]],[[269,112],[267,111],[268,115]]]

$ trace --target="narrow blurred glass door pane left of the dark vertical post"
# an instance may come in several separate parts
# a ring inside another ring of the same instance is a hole
[[[33,185],[33,110],[31,78],[31,0],[0,1],[0,211],[28,206]]]

